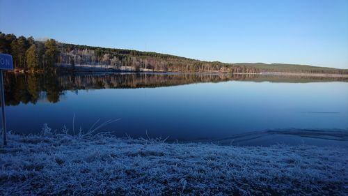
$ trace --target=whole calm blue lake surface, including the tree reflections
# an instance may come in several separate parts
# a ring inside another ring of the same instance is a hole
[[[112,131],[119,137],[169,136],[169,141],[264,145],[313,142],[318,137],[272,133],[240,140],[236,135],[278,129],[339,129],[343,130],[342,137],[324,134],[315,141],[331,144],[343,140],[347,145],[346,80],[218,74],[6,73],[8,130],[40,133],[42,124],[48,123],[57,132],[63,126],[72,132],[75,116],[75,132],[79,128],[89,130],[98,119],[99,123],[120,119],[99,130]]]

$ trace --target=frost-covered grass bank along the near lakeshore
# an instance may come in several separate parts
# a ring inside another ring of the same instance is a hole
[[[8,142],[0,195],[348,195],[347,149],[169,144],[47,126]]]

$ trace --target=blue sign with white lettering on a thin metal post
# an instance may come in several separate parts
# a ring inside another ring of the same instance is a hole
[[[6,137],[6,116],[5,116],[5,93],[3,92],[3,73],[2,70],[13,70],[13,60],[10,54],[0,53],[0,91],[1,91],[1,110],[3,126],[3,145],[7,145]]]

